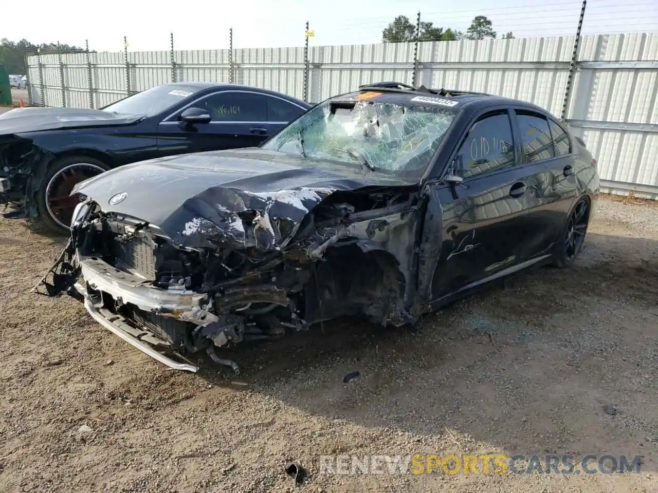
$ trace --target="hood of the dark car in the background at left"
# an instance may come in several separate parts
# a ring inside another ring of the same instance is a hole
[[[0,135],[68,128],[128,125],[143,115],[119,115],[83,108],[14,108],[0,114]]]

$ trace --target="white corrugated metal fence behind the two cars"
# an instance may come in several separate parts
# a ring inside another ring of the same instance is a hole
[[[419,43],[428,87],[530,101],[560,116],[575,36]],[[76,53],[28,58],[35,103],[88,108],[166,82],[229,82],[309,101],[370,82],[411,83],[414,43]],[[61,64],[60,64],[61,56]],[[567,121],[599,160],[604,187],[658,198],[658,33],[583,36]],[[308,63],[307,63],[308,62]],[[308,70],[308,72],[307,72]]]

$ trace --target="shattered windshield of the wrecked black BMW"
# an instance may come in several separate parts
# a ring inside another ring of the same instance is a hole
[[[353,105],[353,107],[349,107]],[[345,107],[347,106],[347,107]],[[263,149],[358,165],[384,172],[424,172],[455,110],[355,101],[325,101],[272,138]]]

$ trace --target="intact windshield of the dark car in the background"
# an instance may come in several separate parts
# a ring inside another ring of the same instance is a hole
[[[120,114],[153,116],[170,108],[170,106],[176,105],[176,103],[182,102],[198,90],[196,87],[185,85],[159,85],[128,96],[101,109]]]

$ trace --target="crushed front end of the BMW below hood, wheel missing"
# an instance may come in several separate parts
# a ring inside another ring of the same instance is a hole
[[[320,200],[294,226],[245,209],[226,216],[226,229],[194,218],[178,235],[88,200],[52,282],[42,281],[49,295],[72,294],[114,334],[186,371],[198,369],[188,356],[205,352],[237,373],[218,348],[338,316],[411,321],[413,194],[342,195]]]

